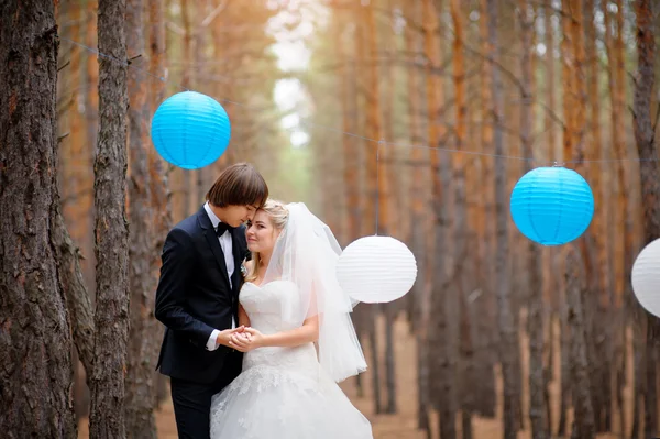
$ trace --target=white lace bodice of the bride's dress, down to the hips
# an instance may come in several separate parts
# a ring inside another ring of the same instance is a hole
[[[250,317],[250,326],[263,334],[273,334],[296,329],[282,318],[282,310],[299,300],[296,284],[288,281],[273,281],[260,286],[245,283],[239,297]],[[260,348],[248,352],[243,358],[243,370],[253,366],[285,366],[298,371],[318,372],[319,363],[312,343],[296,348]]]

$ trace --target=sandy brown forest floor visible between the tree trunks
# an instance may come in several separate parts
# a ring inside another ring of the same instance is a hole
[[[380,328],[383,330],[384,322],[380,321]],[[383,333],[383,332],[382,332]],[[397,392],[398,392],[398,413],[396,415],[376,415],[374,414],[374,406],[372,400],[372,388],[370,372],[363,374],[362,382],[364,383],[364,396],[358,397],[355,378],[349,378],[341,384],[342,389],[350,397],[353,404],[360,409],[372,422],[374,439],[426,439],[424,431],[417,429],[417,370],[415,366],[416,359],[416,343],[414,337],[408,331],[407,322],[400,318],[395,325],[395,355],[397,359],[396,363],[396,377],[397,377]],[[524,336],[524,334],[522,334]],[[524,336],[525,337],[525,336]],[[384,338],[381,338],[381,340]],[[526,341],[526,340],[524,340]],[[383,345],[383,343],[381,343]],[[369,353],[369,345],[364,347],[365,358],[371,359]],[[522,356],[524,373],[527,365],[527,355]],[[473,438],[474,439],[498,439],[502,438],[502,381],[499,372],[496,371],[497,375],[497,416],[495,418],[484,418],[480,416],[473,417]],[[527,400],[527,383],[524,384],[524,402]],[[551,392],[552,400],[557,402],[558,383],[552,383]],[[630,397],[630,389],[626,388],[625,396],[627,399]],[[557,413],[557,404],[553,404],[553,411]],[[527,407],[524,407],[527,413]],[[460,416],[457,417],[457,428],[460,432]],[[557,416],[554,416],[557,419]],[[571,420],[569,418],[569,420]],[[160,439],[176,439],[176,424],[174,420],[174,410],[172,402],[167,399],[163,403],[162,407],[156,413],[156,421],[158,429]],[[570,424],[569,424],[570,425]],[[629,425],[629,421],[628,421]],[[615,426],[616,428],[616,426]],[[438,424],[437,415],[431,414],[431,429],[432,437],[438,437]],[[460,437],[460,436],[459,436]],[[598,435],[598,439],[615,439],[619,438],[619,435]],[[88,438],[88,421],[87,418],[82,418],[79,425],[79,439]],[[530,430],[529,426],[518,433],[518,439],[529,439]],[[338,438],[339,439],[339,438]]]

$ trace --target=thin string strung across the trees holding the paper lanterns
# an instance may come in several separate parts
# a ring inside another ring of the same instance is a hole
[[[145,75],[155,78],[160,81],[166,83],[166,84],[173,84],[169,83],[166,78],[158,76],[158,75],[154,75],[153,73],[144,69],[144,68],[139,68],[134,65],[132,65],[130,62],[128,61],[122,61],[122,59],[118,59],[111,55],[101,53],[100,51],[90,47],[88,45],[85,45],[82,43],[79,43],[77,41],[67,39],[65,36],[61,36],[61,40],[63,41],[67,41],[72,44],[75,44],[81,48],[85,48],[86,51],[89,51],[91,53],[97,54],[100,57],[103,57],[106,59],[110,59],[112,62],[119,63],[122,66],[125,66],[127,68],[133,68],[138,72],[144,73]],[[176,87],[180,88],[182,90],[185,91],[190,91],[188,88],[184,87],[180,84],[174,84]],[[237,102],[234,100],[230,100],[230,99],[223,99],[223,98],[216,98],[219,101],[222,102],[228,102],[238,107],[243,107],[246,109],[255,109],[255,107],[251,107],[249,105],[245,103],[241,103],[241,102]],[[260,109],[261,110],[261,109]],[[475,155],[475,156],[483,156],[483,157],[492,157],[492,158],[504,158],[504,160],[517,160],[517,161],[528,161],[528,162],[536,162],[536,163],[540,163],[540,164],[546,164],[546,165],[553,165],[557,162],[553,161],[548,161],[548,160],[540,160],[540,158],[535,158],[535,157],[525,157],[525,156],[517,156],[517,155],[506,155],[506,154],[490,154],[490,153],[484,153],[484,152],[479,152],[479,151],[466,151],[466,150],[455,150],[455,149],[451,149],[451,147],[444,147],[444,146],[430,146],[428,144],[408,144],[408,143],[395,143],[395,142],[388,142],[384,139],[381,140],[376,140],[376,139],[372,139],[372,138],[367,138],[361,134],[356,134],[356,133],[352,133],[352,132],[348,132],[348,131],[343,131],[340,130],[338,128],[334,127],[328,127],[328,125],[323,125],[320,123],[315,123],[315,122],[309,122],[309,121],[301,121],[300,124],[302,125],[308,125],[311,128],[318,128],[318,129],[322,129],[322,130],[327,130],[327,131],[332,131],[336,133],[339,133],[341,135],[348,135],[351,138],[355,138],[355,139],[360,139],[363,140],[365,142],[373,142],[376,143],[376,161],[378,160],[378,155],[380,155],[380,149],[382,145],[387,145],[387,146],[395,146],[395,147],[403,147],[403,149],[424,149],[424,150],[429,150],[429,151],[444,151],[448,153],[459,153],[459,154],[468,154],[468,155]],[[562,161],[562,163],[564,164],[578,164],[578,163],[618,163],[618,162],[658,162],[660,161],[660,158],[656,157],[656,158],[595,158],[595,160],[568,160],[568,161]],[[376,173],[376,178],[378,178],[378,173]],[[376,190],[376,197],[378,190]],[[376,202],[376,212],[377,212],[377,202]],[[377,217],[377,215],[376,215]],[[377,221],[377,219],[376,219]],[[377,222],[376,222],[376,234],[377,234]]]

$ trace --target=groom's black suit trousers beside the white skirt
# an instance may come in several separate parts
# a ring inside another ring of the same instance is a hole
[[[179,438],[209,439],[211,397],[227,387],[239,374],[243,354],[231,351],[227,354],[222,371],[212,384],[172,378],[172,402]]]

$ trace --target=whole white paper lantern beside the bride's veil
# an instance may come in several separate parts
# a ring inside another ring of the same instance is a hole
[[[391,237],[366,237],[344,249],[337,263],[337,277],[355,300],[388,303],[410,290],[417,262],[403,242]]]

